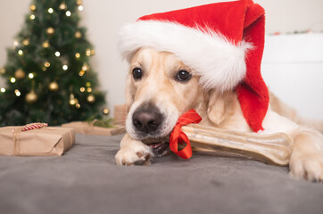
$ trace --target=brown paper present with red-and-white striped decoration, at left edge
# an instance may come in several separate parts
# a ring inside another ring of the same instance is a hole
[[[0,128],[0,155],[62,155],[75,142],[72,128],[46,127],[15,131],[23,127]]]

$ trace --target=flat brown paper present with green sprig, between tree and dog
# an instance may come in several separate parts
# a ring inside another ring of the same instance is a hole
[[[88,122],[70,122],[62,124],[62,127],[74,128],[76,133],[89,136],[114,136],[124,132],[124,129],[117,125],[115,128],[100,128],[95,127],[93,123]]]

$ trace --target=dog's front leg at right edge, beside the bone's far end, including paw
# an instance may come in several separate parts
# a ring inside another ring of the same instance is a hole
[[[294,150],[289,167],[293,177],[323,181],[323,136],[316,130],[299,128],[292,134]]]

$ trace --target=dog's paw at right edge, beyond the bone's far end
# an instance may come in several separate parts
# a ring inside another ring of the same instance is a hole
[[[323,181],[323,152],[292,156],[289,168],[292,177]]]

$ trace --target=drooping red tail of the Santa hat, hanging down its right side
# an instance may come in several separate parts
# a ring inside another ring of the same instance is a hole
[[[244,119],[254,132],[263,130],[262,120],[269,106],[269,90],[261,77],[261,59],[265,42],[265,16],[259,4],[251,5],[245,12],[244,39],[253,44],[246,55],[246,76],[236,87]]]

